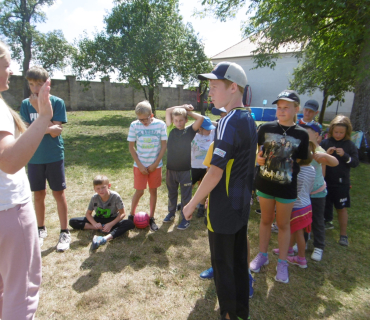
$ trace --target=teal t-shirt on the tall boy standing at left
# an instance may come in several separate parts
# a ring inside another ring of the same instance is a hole
[[[53,118],[51,121],[66,123],[67,112],[64,101],[58,97],[50,96],[50,102],[53,108]],[[20,114],[23,120],[30,125],[32,125],[32,122],[35,121],[39,115],[35,108],[32,107],[28,98],[22,101]],[[53,138],[50,134],[45,134],[29,163],[44,164],[57,162],[63,159],[64,142],[62,136],[59,135],[58,137]]]

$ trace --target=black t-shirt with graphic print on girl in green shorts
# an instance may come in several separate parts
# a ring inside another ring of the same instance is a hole
[[[284,135],[285,131],[285,135]],[[265,165],[259,167],[256,188],[270,196],[297,198],[297,159],[307,159],[309,137],[298,125],[281,126],[277,121],[263,124],[258,131],[258,145],[263,146]]]

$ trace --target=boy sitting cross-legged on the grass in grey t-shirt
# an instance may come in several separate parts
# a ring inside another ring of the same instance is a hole
[[[110,190],[111,184],[106,176],[97,175],[93,180],[95,194],[90,200],[85,217],[72,218],[69,225],[77,230],[101,230],[106,236],[94,236],[92,249],[96,250],[107,241],[122,236],[126,231],[134,229],[131,220],[123,220],[125,207],[120,195]],[[95,210],[95,216],[92,216]]]

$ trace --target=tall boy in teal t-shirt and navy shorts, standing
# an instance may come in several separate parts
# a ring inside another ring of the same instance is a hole
[[[42,85],[48,78],[48,72],[39,66],[31,67],[26,73],[31,96],[22,101],[20,114],[28,126],[32,125],[39,115],[37,97]],[[31,191],[34,192],[40,246],[43,245],[44,238],[47,236],[45,227],[47,180],[57,203],[60,221],[61,230],[56,249],[62,252],[69,249],[71,242],[71,236],[68,231],[67,201],[64,192],[66,189],[64,143],[61,136],[62,124],[67,122],[67,113],[62,99],[50,95],[50,102],[53,108],[53,118],[45,132],[44,138],[28,163],[28,179]]]

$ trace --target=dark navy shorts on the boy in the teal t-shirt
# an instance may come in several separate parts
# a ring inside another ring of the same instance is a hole
[[[53,191],[62,191],[66,186],[64,160],[45,164],[28,164],[28,180],[31,191],[46,189],[46,180]]]

